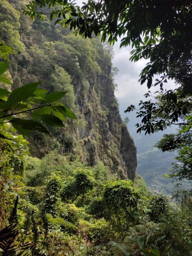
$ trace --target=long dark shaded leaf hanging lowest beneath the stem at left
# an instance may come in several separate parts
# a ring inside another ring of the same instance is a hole
[[[13,118],[10,122],[12,123],[13,127],[17,130],[18,130],[18,126],[20,126],[19,128],[23,130],[39,131],[45,134],[49,134],[49,131],[47,131],[44,125],[41,125],[41,123],[33,120]],[[18,130],[18,131],[21,131],[21,130]]]

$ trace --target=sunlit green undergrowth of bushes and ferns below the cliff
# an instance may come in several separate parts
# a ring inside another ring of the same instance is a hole
[[[26,148],[25,140],[20,143]],[[13,149],[11,152],[15,154]],[[67,158],[65,162],[55,161],[55,151],[46,156],[51,172],[44,172],[45,159],[21,152],[14,161],[9,154],[6,165],[13,167],[9,172],[8,167],[3,169],[3,179],[9,186],[1,186],[1,209],[6,209],[1,210],[2,256],[189,255],[190,195],[188,201],[181,202],[179,193],[175,194],[178,204],[171,206],[162,195],[152,196],[140,177],[135,184],[131,180],[110,180],[102,163],[89,169],[75,168],[77,163]],[[34,184],[33,175],[28,175],[33,170],[39,177],[43,175],[44,184]],[[15,194],[19,195],[16,200]]]

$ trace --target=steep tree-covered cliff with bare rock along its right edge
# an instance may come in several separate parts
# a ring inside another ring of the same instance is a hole
[[[62,102],[78,117],[77,122],[69,120],[66,128],[50,128],[51,138],[33,133],[31,154],[43,157],[57,148],[60,154],[71,159],[76,155],[90,166],[102,160],[111,172],[134,180],[136,147],[114,96],[111,48],[96,38],[75,37],[54,21],[31,21],[22,15],[25,4],[26,0],[0,4],[3,13],[14,17],[2,18],[12,25],[3,38],[9,39],[5,43],[14,51],[10,65],[13,88],[43,81],[41,86],[51,92],[69,91]]]

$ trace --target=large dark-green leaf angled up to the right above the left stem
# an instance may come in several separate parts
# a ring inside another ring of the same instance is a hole
[[[32,84],[25,84],[24,86],[15,89],[7,99],[8,108],[15,103],[24,101],[32,96],[40,83],[41,81]]]

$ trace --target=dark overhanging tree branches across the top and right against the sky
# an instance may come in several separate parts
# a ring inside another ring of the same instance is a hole
[[[49,9],[46,14],[42,10],[45,6]],[[48,16],[50,20],[55,20],[55,24],[69,26],[70,30],[74,29],[75,35],[85,38],[92,38],[93,34],[101,35],[102,42],[108,39],[109,44],[114,44],[118,37],[123,36],[120,47],[132,46],[131,61],[148,59],[139,81],[141,84],[147,81],[148,89],[151,86],[159,86],[160,89],[153,98],[148,91],[144,95],[148,100],[140,101],[137,117],[142,119],[141,124],[137,123],[137,132],[150,134],[163,131],[172,124],[180,126],[177,134],[166,135],[163,143],[159,144],[163,151],[182,147],[177,160],[184,167],[175,164],[171,175],[180,180],[191,179],[191,166],[187,167],[189,157],[183,159],[186,151],[191,151],[188,146],[192,128],[191,9],[192,4],[187,0],[182,3],[166,0],[137,3],[131,0],[121,1],[120,4],[114,0],[89,0],[82,7],[76,6],[73,1],[41,0],[30,3],[23,10],[32,20]],[[152,84],[155,75],[160,75],[160,78]],[[163,89],[168,79],[175,80],[178,85],[175,90]],[[135,109],[131,105],[125,113]]]

